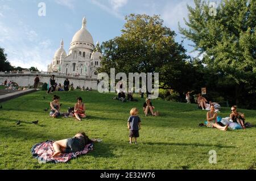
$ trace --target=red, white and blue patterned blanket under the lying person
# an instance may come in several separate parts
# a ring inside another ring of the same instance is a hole
[[[38,159],[39,163],[65,163],[68,162],[72,158],[76,158],[79,155],[86,154],[90,150],[93,150],[93,144],[88,144],[85,146],[84,150],[77,151],[76,153],[64,153],[60,157],[57,158],[51,158],[51,155],[53,155],[53,142],[52,140],[47,140],[44,142],[40,142],[39,144],[36,144],[32,146],[31,148],[31,154],[34,158]]]

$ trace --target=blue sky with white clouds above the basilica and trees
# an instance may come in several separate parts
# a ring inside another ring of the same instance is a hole
[[[38,15],[40,2],[46,4],[46,16]],[[187,3],[193,5],[192,0],[0,0],[0,47],[13,66],[47,71],[61,39],[68,52],[83,16],[95,44],[121,35],[124,17],[131,13],[159,14],[181,42],[177,23],[184,27]],[[188,54],[195,56],[188,44],[185,40]]]

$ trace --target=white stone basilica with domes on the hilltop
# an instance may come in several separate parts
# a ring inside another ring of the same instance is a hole
[[[101,66],[102,54],[99,49],[100,44],[97,42],[95,47],[92,35],[86,30],[85,18],[82,19],[82,28],[73,36],[68,55],[63,46],[62,40],[51,64],[47,66],[48,72],[95,77],[97,68]]]

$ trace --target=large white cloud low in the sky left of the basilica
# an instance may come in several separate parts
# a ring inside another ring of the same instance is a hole
[[[8,27],[0,22],[0,30],[1,47],[5,48],[11,65],[22,68],[34,66],[38,70],[47,71],[47,64],[54,54],[51,40],[40,37],[20,21],[15,27]]]

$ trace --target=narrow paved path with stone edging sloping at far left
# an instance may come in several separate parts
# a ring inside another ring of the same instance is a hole
[[[18,98],[19,96],[30,94],[35,92],[36,89],[27,89],[27,90],[0,90],[0,103],[5,102],[7,100],[11,100],[14,98]]]

